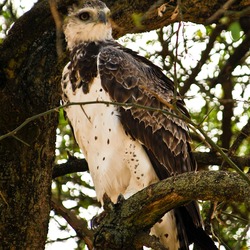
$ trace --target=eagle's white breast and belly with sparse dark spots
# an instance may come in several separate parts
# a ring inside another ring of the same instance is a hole
[[[119,108],[103,89],[100,75],[93,78],[85,93],[70,81],[65,67],[62,87],[64,102],[84,102],[66,108],[74,135],[89,165],[97,198],[105,193],[116,202],[119,194],[129,197],[157,181],[151,162],[139,141],[132,139],[120,121]],[[79,83],[76,84],[79,85]]]

